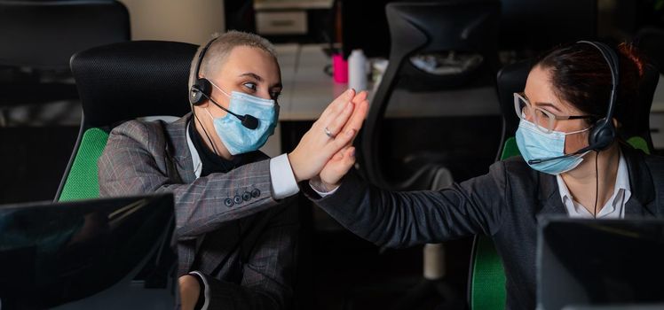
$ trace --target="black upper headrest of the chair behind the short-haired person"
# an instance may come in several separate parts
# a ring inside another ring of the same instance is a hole
[[[198,46],[133,41],[83,50],[71,59],[87,127],[189,111],[187,81]]]

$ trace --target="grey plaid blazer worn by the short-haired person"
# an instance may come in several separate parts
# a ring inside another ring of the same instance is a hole
[[[178,275],[192,269],[204,274],[210,308],[289,307],[295,199],[274,200],[266,156],[196,179],[186,143],[189,118],[131,120],[114,128],[99,158],[101,196],[173,193]]]

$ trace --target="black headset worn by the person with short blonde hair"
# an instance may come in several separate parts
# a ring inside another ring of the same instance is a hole
[[[205,52],[208,51],[209,46],[215,42],[215,40],[217,40],[217,38],[209,40],[209,43],[207,43],[201,50],[201,53],[198,54],[198,60],[196,61],[196,71],[194,73],[194,83],[192,83],[192,87],[189,89],[189,103],[192,105],[202,105],[205,102],[205,99],[208,99],[214,105],[217,105],[219,109],[222,109],[225,112],[228,112],[234,117],[238,118],[238,120],[241,120],[242,126],[245,128],[256,129],[258,128],[258,123],[260,122],[256,117],[249,114],[244,114],[243,116],[238,115],[217,104],[217,101],[212,99],[210,96],[212,94],[212,83],[208,79],[200,77],[199,75],[203,57],[205,57]]]

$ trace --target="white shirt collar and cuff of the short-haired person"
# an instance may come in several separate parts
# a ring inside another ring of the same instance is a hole
[[[192,138],[189,136],[189,124],[186,125],[186,144],[189,146],[189,152],[192,154],[194,164],[194,174],[196,178],[201,177],[202,162],[198,151],[194,147]],[[287,198],[295,195],[300,188],[297,186],[295,174],[290,167],[290,161],[287,154],[281,154],[270,159],[270,182],[272,182],[272,192],[274,199]]]

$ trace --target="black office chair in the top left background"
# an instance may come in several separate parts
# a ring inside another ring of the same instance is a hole
[[[77,100],[69,58],[129,40],[117,1],[0,1],[0,125],[15,106]]]

